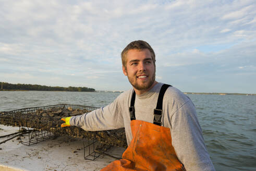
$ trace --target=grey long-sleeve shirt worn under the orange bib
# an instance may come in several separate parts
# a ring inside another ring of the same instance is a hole
[[[153,123],[154,108],[163,83],[157,83],[150,91],[136,94],[135,115],[137,120]],[[87,114],[70,118],[70,125],[87,131],[118,129],[125,127],[128,145],[132,140],[129,106],[132,89],[121,93],[111,104]],[[188,96],[169,87],[163,99],[164,127],[170,128],[172,145],[187,171],[215,170],[205,148],[196,109]]]

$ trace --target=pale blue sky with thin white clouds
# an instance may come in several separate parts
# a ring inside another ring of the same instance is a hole
[[[144,40],[158,82],[256,93],[255,9],[255,0],[0,0],[0,81],[128,90],[120,53]]]

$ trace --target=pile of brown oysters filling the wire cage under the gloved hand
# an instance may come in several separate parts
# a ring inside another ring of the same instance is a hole
[[[68,108],[49,108],[38,109],[35,112],[23,114],[21,112],[0,113],[0,124],[7,126],[18,126],[34,128],[39,131],[50,131],[55,135],[69,135],[74,138],[97,139],[103,144],[114,146],[127,146],[125,129],[115,129],[106,131],[84,131],[75,126],[60,127],[64,121],[62,117],[82,115],[90,112],[87,109],[72,109]]]

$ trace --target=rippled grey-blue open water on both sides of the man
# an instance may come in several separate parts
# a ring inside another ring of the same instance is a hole
[[[0,91],[0,111],[53,104],[101,107],[120,93]],[[216,170],[256,170],[256,95],[187,94]]]

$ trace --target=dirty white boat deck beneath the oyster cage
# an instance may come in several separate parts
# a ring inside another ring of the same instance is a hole
[[[0,125],[0,136],[17,132],[19,127]],[[27,136],[27,135],[25,135]],[[0,142],[10,138],[0,138]],[[121,157],[124,148],[114,147],[108,154]],[[75,151],[75,152],[74,152]],[[101,155],[94,161],[83,157],[81,139],[58,137],[30,146],[23,145],[14,138],[0,144],[0,170],[100,170],[115,159]]]

